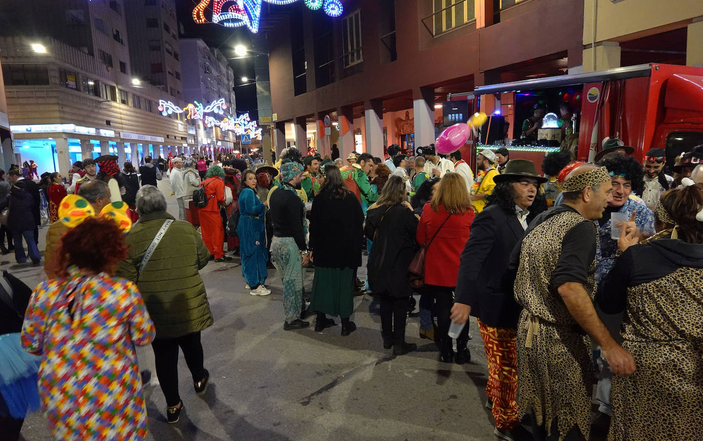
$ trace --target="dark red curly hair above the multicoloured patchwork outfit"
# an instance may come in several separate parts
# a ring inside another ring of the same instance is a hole
[[[117,264],[126,259],[127,244],[124,234],[112,219],[88,217],[63,235],[51,262],[53,274],[67,275],[72,265],[94,273],[114,274]]]

